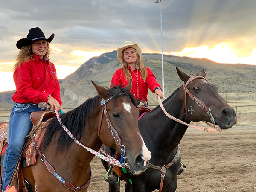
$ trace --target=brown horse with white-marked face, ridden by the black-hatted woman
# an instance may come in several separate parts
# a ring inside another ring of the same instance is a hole
[[[113,87],[108,90],[93,85],[98,95],[62,114],[62,123],[80,143],[95,151],[100,149],[102,143],[119,152],[121,147],[125,148],[131,172],[135,175],[142,173],[147,168],[150,152],[138,128],[139,112],[130,93],[131,82],[125,88]],[[91,178],[89,163],[94,154],[75,143],[57,118],[51,119],[46,128],[40,147],[41,157],[36,157],[35,165],[21,168],[26,183],[31,186],[30,190],[87,191]]]

